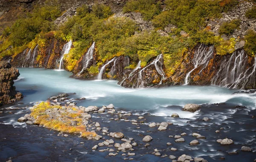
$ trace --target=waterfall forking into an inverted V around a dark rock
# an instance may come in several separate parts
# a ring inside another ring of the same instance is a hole
[[[159,82],[159,84],[162,84],[162,81],[165,78],[165,73],[164,73],[163,68],[162,68],[163,63],[162,63],[162,61],[160,61],[161,59],[163,59],[163,55],[162,54],[158,55],[157,58],[152,63],[150,63],[149,65],[145,66],[145,68],[143,68],[143,69],[141,69],[139,71],[138,78],[137,78],[137,88],[144,88],[144,80],[143,80],[142,72],[146,68],[148,68],[148,66],[150,66],[150,65],[154,65],[157,73],[162,76],[161,77],[161,81]],[[158,65],[157,63],[160,63],[160,65]]]

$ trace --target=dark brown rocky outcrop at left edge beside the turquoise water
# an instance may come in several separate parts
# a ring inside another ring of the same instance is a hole
[[[0,104],[15,102],[22,98],[22,94],[15,91],[13,86],[19,75],[17,68],[13,68],[8,62],[0,61]]]

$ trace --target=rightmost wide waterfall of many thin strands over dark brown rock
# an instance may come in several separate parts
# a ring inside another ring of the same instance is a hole
[[[245,88],[253,80],[255,83],[256,59],[254,65],[247,68],[248,56],[244,52],[235,51],[229,59],[221,62],[220,68],[212,78],[212,85],[222,85],[228,88]],[[253,78],[254,77],[254,78]]]

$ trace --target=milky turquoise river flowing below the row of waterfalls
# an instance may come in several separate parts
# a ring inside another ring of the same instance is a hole
[[[149,111],[154,114],[170,116],[179,114],[182,118],[196,114],[184,112],[180,107],[166,108],[170,105],[183,106],[187,103],[233,103],[250,108],[256,106],[253,94],[233,94],[238,90],[218,86],[170,86],[164,88],[131,89],[117,85],[113,80],[76,80],[67,71],[54,71],[44,68],[20,68],[22,80],[16,81],[17,91],[21,91],[24,99],[21,102],[45,101],[48,97],[60,93],[77,94],[76,98],[85,97],[79,102],[83,106],[102,106],[113,103],[116,108],[127,110]],[[165,111],[163,111],[165,108]]]

